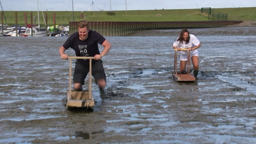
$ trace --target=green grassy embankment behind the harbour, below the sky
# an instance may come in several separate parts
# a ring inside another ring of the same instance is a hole
[[[17,12],[17,23],[24,25],[24,13],[27,13],[27,23],[30,23],[30,13],[35,16],[37,24],[37,11],[4,11],[8,25],[15,24],[15,12]],[[68,25],[72,20],[80,20],[81,11],[39,11],[40,26],[44,26],[42,16],[47,13],[48,26],[53,25],[53,12],[55,12],[55,23]],[[125,10],[112,11],[115,15],[106,15],[107,11],[83,11],[83,17],[88,21],[207,21],[208,16],[201,13],[201,9],[159,9],[159,10]],[[212,13],[226,13],[228,20],[256,20],[256,7],[241,8],[211,8]],[[160,16],[159,16],[160,15]],[[5,19],[3,18],[5,24]]]

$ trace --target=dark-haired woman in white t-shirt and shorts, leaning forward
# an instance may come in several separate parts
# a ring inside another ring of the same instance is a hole
[[[174,49],[180,50],[181,48],[187,48],[189,50],[189,56],[193,63],[193,75],[196,78],[199,70],[199,58],[198,50],[201,46],[200,41],[193,35],[189,34],[186,28],[183,28],[180,31],[179,37],[173,42],[172,47]],[[186,63],[187,63],[187,52],[180,51],[180,63],[179,71],[185,72]]]

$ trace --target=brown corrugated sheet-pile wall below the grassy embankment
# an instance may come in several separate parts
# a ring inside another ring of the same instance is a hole
[[[69,21],[69,34],[77,31],[78,21]],[[89,29],[103,36],[124,36],[139,30],[206,28],[238,24],[242,21],[89,21]]]

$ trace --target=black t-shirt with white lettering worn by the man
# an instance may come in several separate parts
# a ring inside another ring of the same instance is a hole
[[[100,54],[98,50],[98,43],[102,44],[105,38],[96,31],[89,30],[88,37],[85,40],[79,39],[78,32],[71,34],[64,44],[62,45],[65,49],[71,47],[75,51],[76,56],[94,56]],[[77,59],[81,64],[88,67],[88,59]],[[94,59],[92,59],[92,62]]]

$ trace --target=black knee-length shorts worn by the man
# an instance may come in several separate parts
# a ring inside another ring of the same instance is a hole
[[[91,65],[91,75],[94,77],[95,81],[97,81],[97,79],[106,80],[106,74],[104,72],[102,60],[95,60]],[[84,79],[88,72],[89,67],[85,67],[78,60],[76,60],[73,74],[74,83],[81,83],[84,85]]]

